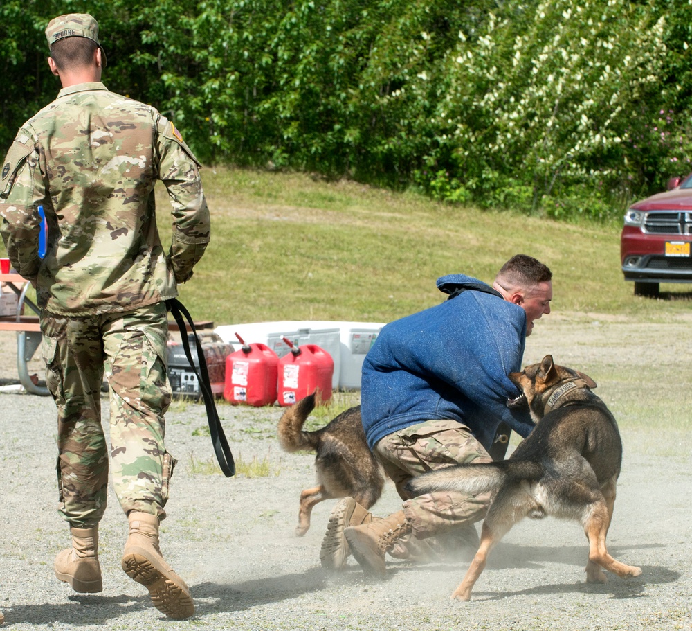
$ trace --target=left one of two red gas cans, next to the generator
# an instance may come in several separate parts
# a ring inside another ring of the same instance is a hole
[[[276,400],[279,357],[264,344],[245,344],[226,357],[224,399],[247,405],[272,405]]]

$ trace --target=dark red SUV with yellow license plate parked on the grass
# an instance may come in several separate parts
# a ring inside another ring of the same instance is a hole
[[[692,174],[625,213],[620,260],[637,296],[657,296],[659,283],[692,283]]]

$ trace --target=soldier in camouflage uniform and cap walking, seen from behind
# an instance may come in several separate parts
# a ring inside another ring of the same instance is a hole
[[[130,525],[122,568],[159,610],[183,619],[194,612],[189,589],[158,546],[175,465],[164,444],[171,400],[165,301],[192,276],[209,242],[199,164],[154,107],[100,82],[106,56],[91,15],[61,15],[46,37],[62,90],[22,125],[3,161],[0,215],[12,265],[36,288],[46,384],[58,411],[59,511],[72,547],[58,554],[55,574],[76,592],[102,589],[105,371],[113,487]],[[156,180],[172,204],[167,252],[156,229]],[[43,259],[39,206],[48,222]]]

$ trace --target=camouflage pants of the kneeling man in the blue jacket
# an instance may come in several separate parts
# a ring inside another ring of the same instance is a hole
[[[478,538],[473,524],[485,517],[489,493],[444,491],[410,497],[403,489],[412,477],[428,471],[491,462],[467,427],[453,420],[428,420],[385,436],[375,445],[374,454],[405,500],[403,512],[412,527],[412,537],[401,540],[392,556],[425,558],[459,548],[475,552]]]

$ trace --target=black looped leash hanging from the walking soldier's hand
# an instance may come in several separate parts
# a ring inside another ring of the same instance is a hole
[[[185,307],[183,307],[182,303],[177,298],[167,300],[166,308],[171,312],[176,323],[178,323],[178,328],[180,329],[181,338],[183,341],[183,350],[185,350],[185,357],[188,358],[188,362],[190,362],[190,366],[192,366],[194,374],[197,375],[199,389],[202,391],[204,405],[207,409],[209,432],[212,437],[212,445],[214,445],[217,461],[219,461],[219,466],[221,467],[221,471],[224,472],[224,475],[227,478],[230,478],[232,475],[235,475],[235,462],[233,461],[233,454],[230,452],[230,447],[228,447],[226,434],[224,434],[224,428],[221,427],[219,413],[217,412],[216,405],[214,403],[214,395],[212,394],[211,384],[209,382],[209,373],[207,371],[207,362],[204,358],[204,351],[202,350],[202,345],[199,342],[199,337],[197,337],[197,331],[194,330],[194,324],[192,323],[190,313],[187,309],[185,309]],[[197,366],[195,366],[194,362],[192,361],[190,343],[188,342],[188,332],[187,328],[185,328],[185,320],[183,320],[183,315],[188,319],[190,330],[192,330],[192,335],[194,335],[194,341],[197,346],[199,373],[197,372]]]

